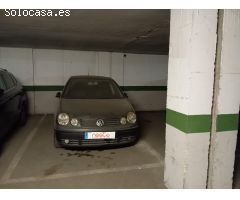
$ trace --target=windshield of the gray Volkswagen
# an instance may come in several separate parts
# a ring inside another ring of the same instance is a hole
[[[71,78],[62,97],[65,99],[119,99],[123,98],[123,94],[112,80]]]

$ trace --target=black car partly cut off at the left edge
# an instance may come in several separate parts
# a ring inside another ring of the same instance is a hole
[[[27,116],[28,98],[23,86],[13,74],[0,68],[0,143],[16,125],[24,125]]]

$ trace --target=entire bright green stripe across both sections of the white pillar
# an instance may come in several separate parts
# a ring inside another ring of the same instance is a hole
[[[166,109],[166,123],[184,133],[203,133],[211,130],[211,115],[185,115]],[[217,132],[238,130],[238,114],[217,116]]]

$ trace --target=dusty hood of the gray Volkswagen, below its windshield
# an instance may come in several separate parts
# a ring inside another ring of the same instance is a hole
[[[134,111],[128,99],[61,99],[59,112],[74,116],[125,116]]]

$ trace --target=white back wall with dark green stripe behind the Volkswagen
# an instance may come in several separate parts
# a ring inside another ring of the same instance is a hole
[[[53,113],[60,91],[72,75],[112,77],[136,110],[166,107],[166,55],[0,47],[0,65],[26,86],[31,113]]]

